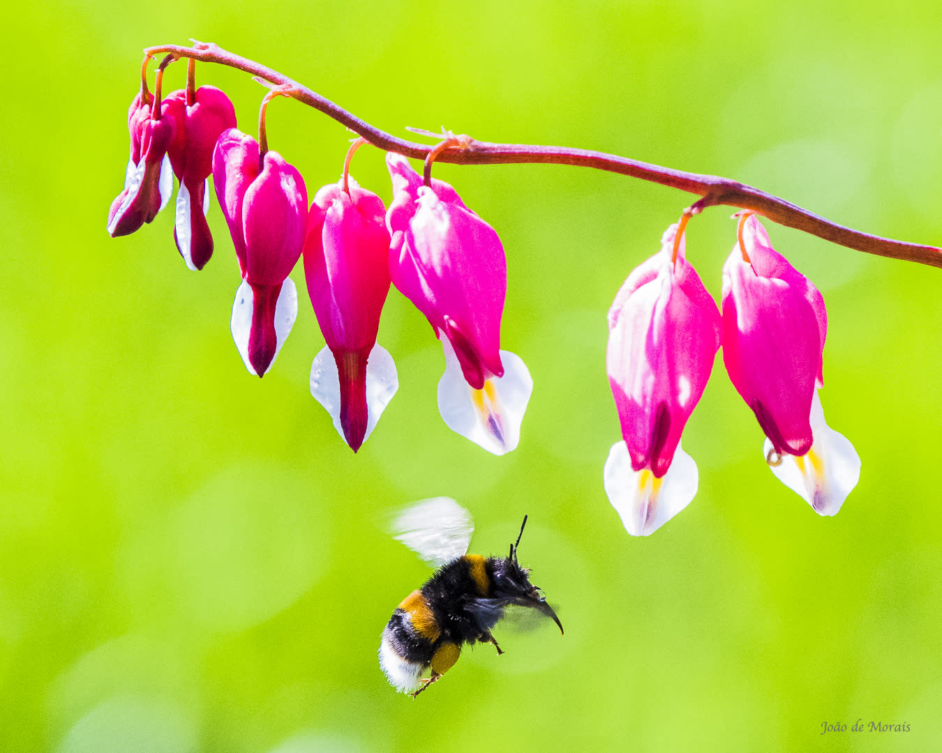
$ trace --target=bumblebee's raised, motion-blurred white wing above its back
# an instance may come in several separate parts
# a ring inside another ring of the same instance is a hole
[[[468,551],[474,521],[450,497],[421,500],[399,512],[392,524],[395,538],[438,568]]]

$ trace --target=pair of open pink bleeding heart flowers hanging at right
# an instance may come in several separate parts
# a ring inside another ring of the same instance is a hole
[[[820,515],[835,515],[856,486],[860,458],[820,406],[823,297],[748,215],[723,266],[721,314],[676,233],[676,225],[664,233],[609,310],[609,385],[624,438],[605,466],[609,501],[634,536],[690,504],[697,467],[680,435],[722,344],[726,371],[767,437],[772,473]]]

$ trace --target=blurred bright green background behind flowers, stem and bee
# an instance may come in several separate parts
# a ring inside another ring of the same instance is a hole
[[[198,274],[171,211],[105,231],[140,50],[193,37],[396,134],[625,154],[938,245],[937,3],[54,0],[4,25],[0,750],[942,747],[939,270],[768,225],[827,301],[822,397],[860,485],[820,519],[779,484],[720,360],[684,435],[700,492],[638,539],[602,489],[619,437],[605,314],[689,195],[588,169],[436,168],[507,249],[503,344],[535,381],[507,457],[442,423],[440,346],[397,292],[380,343],[399,392],[354,456],[308,393],[323,340],[300,266],[299,320],[259,380],[229,334],[239,278],[215,197]],[[249,76],[197,77],[254,129]],[[312,196],[337,179],[340,126],[286,100],[268,123]],[[389,200],[380,152],[352,173]],[[729,214],[688,230],[717,296]],[[385,524],[440,494],[470,508],[482,553],[530,515],[521,558],[566,634],[502,627],[505,656],[465,651],[413,701],[376,651],[429,570]]]

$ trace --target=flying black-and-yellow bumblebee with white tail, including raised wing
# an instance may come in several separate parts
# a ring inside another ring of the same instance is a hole
[[[484,557],[466,553],[474,524],[448,497],[423,500],[398,517],[396,538],[438,568],[398,605],[382,632],[380,666],[399,692],[418,696],[458,661],[465,643],[491,643],[503,653],[491,629],[511,604],[542,612],[562,633],[560,618],[517,561],[526,525],[524,516],[510,555]]]

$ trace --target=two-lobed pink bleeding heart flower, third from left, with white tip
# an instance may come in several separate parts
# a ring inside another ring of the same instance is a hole
[[[250,373],[263,376],[298,316],[288,275],[304,244],[304,180],[278,152],[260,159],[258,142],[229,128],[213,152],[213,181],[242,272],[233,339]]]

